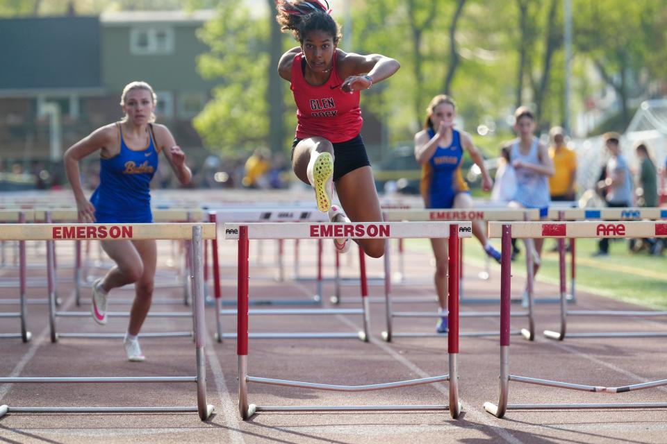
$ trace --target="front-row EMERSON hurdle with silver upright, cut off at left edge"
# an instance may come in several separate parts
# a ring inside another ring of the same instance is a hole
[[[215,237],[215,225],[209,223],[153,223],[153,224],[40,224],[26,228],[21,224],[0,227],[0,239],[53,241],[84,239],[179,239],[190,241],[193,251],[195,355],[196,375],[180,377],[0,377],[0,384],[147,384],[164,382],[194,382],[197,384],[197,407],[11,407],[0,406],[0,416],[6,413],[165,413],[197,412],[201,420],[208,419],[213,406],[206,402],[206,355],[204,345],[204,270],[202,265],[203,239]],[[47,252],[48,253],[48,252]]]

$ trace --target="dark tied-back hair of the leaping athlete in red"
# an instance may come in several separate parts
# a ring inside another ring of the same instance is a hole
[[[340,40],[340,27],[329,15],[327,0],[276,0],[276,9],[281,31],[290,31],[299,43],[312,31],[329,33],[336,43]]]

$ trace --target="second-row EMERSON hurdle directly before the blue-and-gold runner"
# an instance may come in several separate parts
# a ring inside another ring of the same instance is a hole
[[[512,210],[508,208],[502,209],[488,209],[484,208],[481,210],[472,210],[472,209],[461,209],[461,210],[395,210],[387,212],[385,214],[386,221],[453,221],[456,218],[466,218],[470,221],[473,220],[483,220],[483,221],[524,221],[531,219],[538,219],[539,214],[538,210],[525,210],[518,209]],[[468,237],[471,237],[472,234],[468,234]],[[463,244],[463,238],[461,238],[461,244]],[[459,248],[456,248],[457,252]],[[451,255],[450,255],[451,256]],[[526,256],[527,259],[529,255]],[[385,267],[390,268],[390,260],[388,255],[385,256]],[[528,262],[527,262],[528,264]],[[528,266],[529,272],[532,271],[532,264]],[[450,271],[450,274],[452,272]],[[390,272],[387,273],[390,275]],[[459,273],[459,294],[461,293],[461,287],[463,287],[463,280],[461,279],[461,273]],[[531,295],[529,295],[531,296]],[[399,296],[394,297],[392,291],[390,290],[390,285],[385,286],[385,313],[386,313],[386,330],[381,333],[382,339],[384,341],[390,342],[395,337],[433,337],[433,336],[446,336],[447,334],[440,334],[436,332],[395,332],[393,329],[393,318],[438,318],[440,315],[436,311],[394,311],[393,302],[433,302],[433,298],[428,299],[418,299],[411,298],[409,296]],[[468,298],[464,299],[459,297],[459,303],[465,302],[475,302],[475,303],[497,303],[499,299],[497,298]],[[520,302],[520,300],[514,300],[513,302]],[[518,334],[523,336],[525,339],[532,341],[535,337],[535,322],[533,316],[533,307],[532,304],[529,304],[529,307],[526,311],[515,311],[511,313],[511,316],[516,317],[525,317],[528,319],[528,327],[521,330],[516,330],[511,334]],[[500,312],[496,311],[461,311],[459,313],[459,318],[493,318],[500,317]],[[459,332],[459,336],[496,336],[497,332],[486,331],[486,332]]]

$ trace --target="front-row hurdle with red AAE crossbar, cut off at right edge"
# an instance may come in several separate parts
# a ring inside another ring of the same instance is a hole
[[[509,329],[510,329],[510,291],[511,291],[511,238],[534,239],[537,237],[554,237],[565,239],[598,238],[598,237],[667,237],[667,223],[654,222],[524,222],[524,223],[489,223],[489,236],[502,239],[502,264],[500,278],[500,397],[497,404],[485,402],[484,409],[498,418],[502,418],[507,410],[555,410],[555,409],[645,409],[665,408],[667,402],[655,403],[624,403],[624,404],[508,404],[509,382],[522,382],[538,386],[566,388],[568,390],[588,391],[596,393],[625,393],[659,386],[667,386],[667,379],[632,384],[622,387],[590,386],[570,382],[550,381],[532,377],[511,375],[509,373]],[[561,244],[563,246],[563,244]],[[561,277],[563,276],[561,269]],[[561,281],[561,296],[564,298],[565,288]],[[564,300],[564,299],[561,299]],[[564,303],[564,302],[563,302]]]

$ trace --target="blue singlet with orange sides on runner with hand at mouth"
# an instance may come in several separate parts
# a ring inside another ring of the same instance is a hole
[[[428,130],[429,137],[434,137],[434,130]],[[452,130],[452,143],[438,146],[422,167],[420,191],[427,208],[452,208],[456,194],[468,191],[468,184],[463,180],[461,161],[463,146],[461,133]]]

